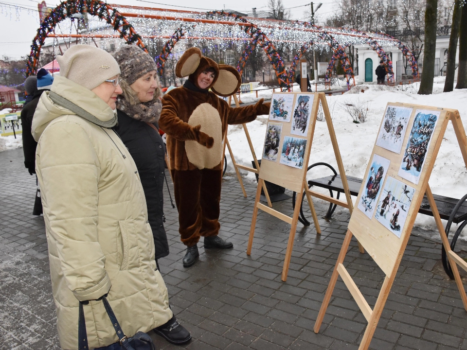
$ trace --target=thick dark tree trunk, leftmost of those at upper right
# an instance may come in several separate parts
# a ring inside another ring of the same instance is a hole
[[[430,95],[433,92],[437,12],[438,0],[427,0],[427,9],[425,10],[425,49],[423,51],[423,72],[418,90],[419,95]]]

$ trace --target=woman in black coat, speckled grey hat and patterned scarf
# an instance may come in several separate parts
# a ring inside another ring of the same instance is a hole
[[[138,168],[157,262],[169,254],[169,246],[163,225],[165,145],[156,130],[162,109],[156,64],[147,53],[133,45],[122,47],[114,57],[120,66],[123,90],[117,98],[118,125],[115,131]]]

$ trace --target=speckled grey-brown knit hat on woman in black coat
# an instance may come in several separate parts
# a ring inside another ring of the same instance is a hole
[[[138,46],[124,45],[113,56],[120,66],[120,76],[128,85],[151,70],[157,71],[156,62]]]

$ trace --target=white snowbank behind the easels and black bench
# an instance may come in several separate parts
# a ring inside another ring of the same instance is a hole
[[[467,127],[467,89],[454,90],[447,93],[442,92],[444,79],[444,77],[435,78],[433,94],[431,95],[417,95],[419,83],[414,83],[397,87],[358,85],[342,95],[327,96],[326,99],[331,112],[346,175],[360,178],[364,176],[388,102],[454,108],[459,110],[462,123],[464,127]],[[295,88],[298,89],[298,86]],[[258,98],[270,99],[271,95],[272,90],[260,91]],[[257,99],[254,93],[250,93],[242,94],[241,100],[247,103]],[[343,104],[356,104],[358,101],[368,103],[369,105],[366,123],[352,123],[351,117],[342,109]],[[268,116],[260,116],[257,120],[248,124],[248,131],[258,159],[262,155],[267,123]],[[241,126],[229,126],[228,138],[236,162],[251,166],[251,152]],[[234,171],[229,152],[226,152],[226,154],[228,159],[227,170]],[[320,161],[331,164],[337,170],[337,162],[325,122],[317,123],[311,148],[310,164]],[[250,179],[254,179],[254,174],[252,173],[242,171],[242,174]],[[311,179],[330,174],[327,169],[319,167],[315,171],[310,171],[307,177]],[[453,198],[460,198],[467,193],[467,171],[451,123],[448,124],[433,172],[431,173],[430,187],[433,193]],[[254,193],[250,194],[251,196],[254,195]],[[356,197],[353,197],[353,199],[356,201]],[[339,210],[342,212],[345,209],[338,207],[335,215],[339,214]],[[427,230],[436,229],[434,219],[421,214],[417,215],[415,226]],[[463,238],[467,240],[466,231],[464,230],[463,232]]]

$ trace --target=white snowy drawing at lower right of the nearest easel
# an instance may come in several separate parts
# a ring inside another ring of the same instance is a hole
[[[379,197],[376,219],[398,238],[404,228],[415,189],[389,176]]]

